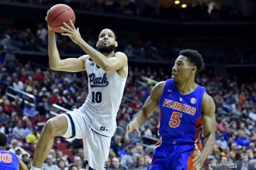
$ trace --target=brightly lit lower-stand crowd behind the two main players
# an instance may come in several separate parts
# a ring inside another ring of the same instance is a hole
[[[42,68],[30,62],[22,64],[10,52],[0,55],[0,132],[8,135],[9,149],[28,167],[31,167],[43,125],[49,118],[63,113],[53,104],[72,110],[80,107],[87,97],[86,72],[75,74]],[[142,76],[155,81],[170,77],[161,68],[129,67],[107,169],[149,168],[154,145],[159,139],[158,111],[154,111],[140,128],[141,134],[134,131],[129,140],[124,139],[127,124],[154,86],[154,81]],[[216,104],[215,147],[204,168],[223,169],[221,166],[209,167],[209,164],[223,163],[235,164],[238,169],[256,169],[256,80],[238,84],[234,75],[217,77],[205,69],[196,81],[206,87]],[[203,132],[201,138],[203,140]],[[55,137],[43,169],[84,169],[83,157],[81,140]]]

